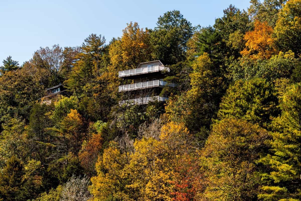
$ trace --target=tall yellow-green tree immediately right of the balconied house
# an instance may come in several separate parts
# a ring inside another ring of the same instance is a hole
[[[216,115],[220,96],[223,93],[223,79],[207,53],[197,57],[189,74],[191,90],[175,96],[166,106],[166,116],[175,122],[185,122],[187,128],[198,132],[208,128]]]

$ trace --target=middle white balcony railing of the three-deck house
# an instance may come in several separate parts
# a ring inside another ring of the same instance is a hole
[[[139,83],[129,84],[129,85],[121,85],[119,86],[119,92],[131,91],[131,90],[143,89],[143,88],[159,87],[159,86],[164,87],[166,85],[170,87],[175,87],[174,83],[167,84],[167,82],[163,80],[153,80],[153,81],[139,82]]]

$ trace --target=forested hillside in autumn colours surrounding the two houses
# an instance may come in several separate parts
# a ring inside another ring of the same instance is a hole
[[[301,200],[301,0],[125,26],[3,61],[0,200]],[[119,105],[118,72],[152,60],[169,100]],[[38,100],[60,83],[67,95]]]

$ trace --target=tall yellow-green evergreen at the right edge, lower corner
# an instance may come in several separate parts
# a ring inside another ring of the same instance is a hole
[[[301,83],[287,88],[280,107],[281,116],[272,124],[272,153],[261,160],[270,172],[262,174],[268,185],[259,197],[295,201],[301,199]]]

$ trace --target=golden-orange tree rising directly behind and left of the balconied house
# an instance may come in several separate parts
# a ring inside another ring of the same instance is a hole
[[[111,42],[109,57],[110,65],[98,81],[107,84],[103,94],[116,98],[121,84],[118,71],[136,68],[139,63],[151,60],[149,30],[140,28],[137,22],[127,24],[122,37]]]

